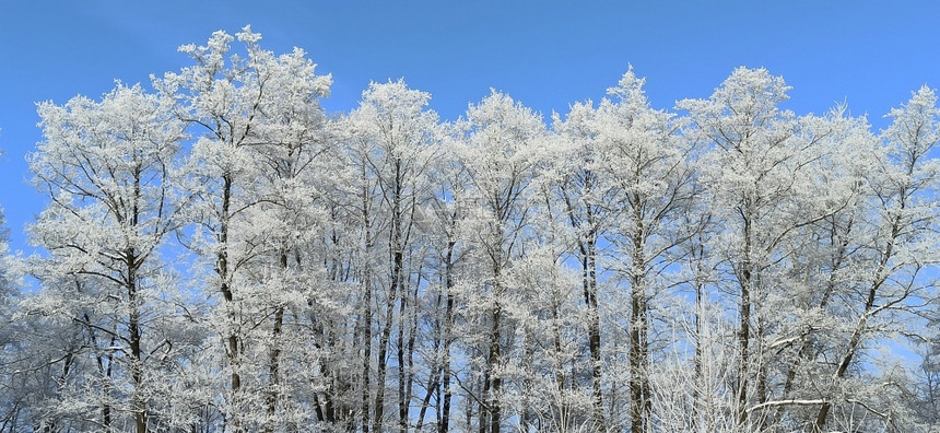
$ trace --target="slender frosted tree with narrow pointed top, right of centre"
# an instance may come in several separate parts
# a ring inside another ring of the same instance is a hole
[[[631,431],[648,430],[653,395],[649,363],[653,305],[670,285],[668,269],[682,259],[678,247],[701,229],[690,213],[697,195],[694,141],[675,132],[673,115],[653,109],[645,80],[627,71],[598,108],[596,128],[602,172],[615,194],[606,206],[618,210],[611,239],[613,270],[630,288],[628,353]],[[700,218],[701,219],[701,218]]]

